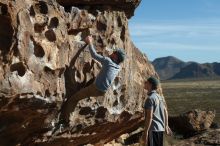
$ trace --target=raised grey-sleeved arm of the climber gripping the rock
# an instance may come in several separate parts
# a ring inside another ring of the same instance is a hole
[[[94,45],[93,45],[93,39],[91,36],[88,36],[86,38],[86,43],[89,45],[89,51],[90,51],[90,54],[92,56],[92,58],[94,58],[95,60],[99,61],[99,62],[103,62],[104,60],[104,57],[102,55],[99,55],[95,48],[94,48]]]

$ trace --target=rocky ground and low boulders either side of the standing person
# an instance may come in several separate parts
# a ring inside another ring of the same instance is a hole
[[[177,117],[170,117],[173,136],[165,136],[165,146],[211,146],[220,145],[219,125],[213,123],[214,112],[193,110]],[[181,122],[179,121],[181,119]],[[121,135],[106,145],[138,146],[143,128]]]

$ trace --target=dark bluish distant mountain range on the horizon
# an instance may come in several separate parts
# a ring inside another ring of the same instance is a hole
[[[184,62],[168,56],[155,59],[152,64],[161,80],[220,77],[220,63]]]

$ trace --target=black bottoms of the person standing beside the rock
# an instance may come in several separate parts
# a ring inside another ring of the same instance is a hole
[[[163,131],[150,131],[148,134],[148,146],[163,146]]]

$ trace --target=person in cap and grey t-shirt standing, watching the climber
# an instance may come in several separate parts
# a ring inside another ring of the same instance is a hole
[[[149,77],[144,83],[148,98],[144,104],[145,122],[141,145],[163,146],[163,133],[172,135],[168,126],[168,112],[164,97],[159,95],[159,80]]]

